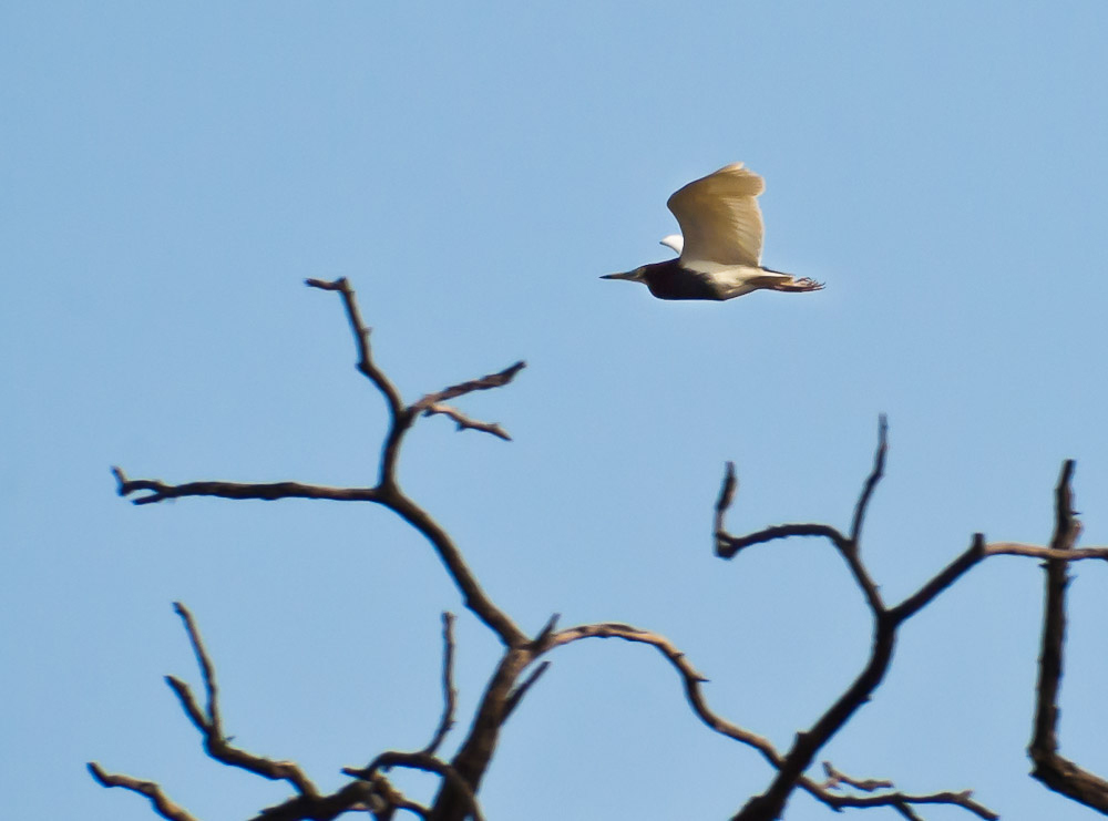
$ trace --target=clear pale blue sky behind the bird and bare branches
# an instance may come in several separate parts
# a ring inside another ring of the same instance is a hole
[[[661,632],[781,747],[859,670],[868,616],[824,544],[712,556],[726,460],[732,531],[845,526],[886,412],[864,555],[891,599],[974,531],[1043,543],[1065,458],[1084,542],[1108,542],[1106,35],[1092,0],[3,3],[4,814],[153,818],[89,759],[205,820],[285,797],[207,759],[162,683],[198,680],[174,599],[227,731],[328,788],[429,738],[443,609],[469,715],[496,644],[387,511],[114,495],[111,464],[372,481],[383,407],[309,276],[352,280],[408,399],[527,360],[460,403],[514,442],[424,420],[401,470],[519,623]],[[666,258],[668,195],[735,161],[767,181],[765,263],[825,290],[675,304],[597,278]],[[1042,584],[975,569],[821,758],[1090,817],[1025,774]],[[1071,591],[1063,752],[1106,774],[1108,575]],[[655,653],[596,643],[554,657],[482,798],[725,818],[770,774]]]

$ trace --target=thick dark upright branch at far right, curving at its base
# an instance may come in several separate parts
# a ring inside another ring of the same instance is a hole
[[[1061,468],[1055,489],[1055,523],[1050,550],[1068,555],[1074,551],[1081,533],[1080,522],[1074,514],[1070,481],[1074,461]],[[1046,573],[1046,602],[1043,614],[1043,643],[1039,654],[1039,675],[1035,706],[1035,731],[1027,753],[1035,763],[1032,777],[1049,789],[1071,798],[1086,807],[1108,814],[1108,781],[1083,769],[1058,753],[1058,690],[1061,685],[1063,654],[1066,644],[1066,588],[1069,586],[1068,563],[1048,558]]]

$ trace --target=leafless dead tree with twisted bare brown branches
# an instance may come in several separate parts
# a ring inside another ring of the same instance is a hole
[[[350,781],[335,792],[322,793],[297,763],[247,752],[232,745],[224,732],[219,712],[215,666],[201,640],[192,614],[184,605],[175,604],[174,607],[184,623],[199,666],[204,687],[203,704],[183,680],[170,676],[166,681],[185,715],[199,731],[205,752],[229,767],[238,767],[265,779],[286,781],[293,791],[286,801],[260,810],[254,821],[330,821],[342,813],[355,811],[369,813],[378,821],[388,821],[398,811],[406,811],[429,821],[482,819],[478,794],[496,750],[501,728],[547,669],[550,660],[546,656],[558,647],[586,638],[619,638],[654,647],[680,677],[688,704],[700,721],[710,730],[746,745],[761,755],[773,771],[773,777],[763,792],[751,797],[738,810],[732,817],[735,821],[771,821],[781,818],[789,798],[798,789],[835,811],[884,807],[896,811],[905,819],[920,819],[922,818],[920,812],[929,804],[950,804],[961,807],[978,818],[998,818],[993,810],[978,803],[968,790],[909,793],[896,789],[888,780],[851,778],[830,762],[823,762],[825,778],[818,780],[807,774],[819,751],[871,698],[881,684],[892,661],[900,627],[972,567],[994,555],[1016,555],[1045,561],[1047,603],[1038,684],[1039,704],[1035,718],[1035,737],[1029,749],[1035,762],[1033,774],[1051,789],[1101,812],[1108,812],[1108,783],[1061,758],[1057,753],[1055,737],[1056,699],[1065,640],[1067,567],[1069,563],[1079,560],[1108,560],[1108,548],[1075,546],[1080,527],[1070,502],[1073,462],[1066,462],[1058,482],[1055,534],[1048,546],[988,543],[978,533],[973,536],[970,546],[962,555],[915,593],[896,604],[883,601],[880,587],[870,575],[861,552],[866,509],[884,472],[888,450],[884,419],[881,420],[879,428],[873,469],[854,507],[850,530],[845,533],[831,525],[815,523],[777,525],[745,536],[727,533],[724,517],[735,499],[737,488],[735,469],[729,463],[716,502],[717,555],[729,560],[751,545],[793,536],[824,538],[842,556],[873,619],[872,648],[862,671],[815,723],[798,732],[792,746],[782,751],[768,739],[717,714],[708,705],[704,692],[707,679],[680,649],[659,633],[622,623],[586,624],[560,629],[557,614],[551,616],[546,625],[534,636],[516,625],[478,583],[450,534],[400,488],[397,464],[404,438],[423,417],[447,415],[458,424],[459,430],[476,430],[510,440],[511,437],[499,424],[472,419],[450,402],[473,391],[506,386],[524,368],[524,362],[515,362],[495,373],[429,393],[408,404],[373,360],[370,329],[362,321],[349,283],[346,279],[336,281],[309,279],[307,284],[312,288],[335,291],[341,297],[358,352],[357,368],[373,383],[387,404],[389,423],[381,447],[376,483],[365,488],[332,488],[299,482],[199,481],[167,484],[158,480],[130,479],[122,470],[114,468],[119,494],[130,497],[134,504],[155,504],[182,496],[219,496],[270,501],[326,499],[382,505],[427,538],[458,588],[465,607],[496,635],[503,645],[503,653],[492,670],[474,715],[469,719],[464,741],[458,752],[448,760],[440,755],[440,748],[458,718],[453,684],[453,616],[443,614],[443,711],[430,741],[419,750],[386,750],[365,766],[346,767],[342,772],[350,777]],[[425,804],[401,794],[389,780],[390,771],[396,768],[422,770],[438,776],[440,781],[437,794]],[[164,819],[196,821],[192,814],[172,801],[155,782],[110,773],[95,762],[89,763],[89,770],[104,787],[120,787],[145,796],[153,810]]]

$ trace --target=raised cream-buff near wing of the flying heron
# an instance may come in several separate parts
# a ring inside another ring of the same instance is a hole
[[[732,163],[677,191],[669,211],[685,236],[681,261],[758,266],[762,222],[758,201],[766,183]]]

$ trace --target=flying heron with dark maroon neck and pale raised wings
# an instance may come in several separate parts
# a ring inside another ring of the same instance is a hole
[[[762,178],[732,163],[677,191],[666,205],[684,238],[661,240],[680,256],[602,279],[643,283],[658,299],[733,299],[752,290],[820,290],[822,283],[761,266]]]

